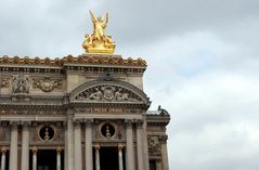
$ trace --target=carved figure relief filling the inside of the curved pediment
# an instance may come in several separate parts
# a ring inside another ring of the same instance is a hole
[[[93,102],[140,102],[141,99],[131,91],[111,84],[90,88],[76,96],[78,101]]]

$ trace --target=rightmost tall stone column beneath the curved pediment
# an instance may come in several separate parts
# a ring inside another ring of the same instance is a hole
[[[143,120],[137,120],[137,151],[138,151],[138,169],[144,169],[143,161]]]

